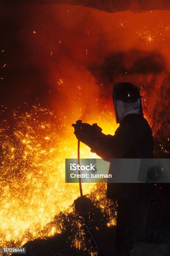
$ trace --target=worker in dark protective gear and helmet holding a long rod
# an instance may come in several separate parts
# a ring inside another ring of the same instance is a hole
[[[76,138],[103,159],[152,158],[152,130],[142,112],[139,88],[130,82],[118,82],[114,84],[112,97],[119,123],[114,136],[105,135],[96,124],[81,123],[73,124]],[[112,167],[111,162],[109,172],[116,173]],[[118,204],[117,256],[130,255],[135,241],[145,241],[153,186],[149,183],[107,183],[107,198],[117,200]]]

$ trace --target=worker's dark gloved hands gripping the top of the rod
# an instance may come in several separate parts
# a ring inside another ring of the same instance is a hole
[[[90,147],[94,139],[102,131],[96,123],[90,125],[89,123],[82,123],[81,120],[77,120],[76,124],[73,123],[72,126],[74,127],[76,138]]]

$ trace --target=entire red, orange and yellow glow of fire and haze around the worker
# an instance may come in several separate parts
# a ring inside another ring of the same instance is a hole
[[[152,123],[160,87],[170,72],[170,11],[107,13],[71,5],[22,8],[21,13],[29,17],[24,19],[29,29],[21,28],[20,42],[28,50],[31,67],[50,88],[46,97],[55,111],[34,105],[29,113],[14,113],[12,136],[6,132],[6,123],[0,127],[0,246],[22,246],[29,240],[62,232],[62,223],[46,232],[43,228],[58,212],[72,211],[70,205],[79,196],[79,184],[65,183],[65,158],[77,158],[71,124],[82,119],[97,123],[106,134],[114,134],[118,125],[112,86],[118,81],[135,82],[141,87],[145,116]],[[104,61],[109,62],[112,55],[117,63],[109,74],[104,73]],[[156,71],[148,72],[144,57],[151,58],[151,64],[159,64]],[[3,64],[3,69],[6,66]],[[29,79],[24,85],[30,91],[37,86]],[[80,149],[81,158],[97,157],[82,143]],[[83,193],[93,187],[83,184]],[[101,195],[96,195],[96,200],[100,199]],[[100,208],[106,208],[103,197]],[[108,222],[111,225],[115,225],[112,216]],[[74,243],[80,250],[81,241]]]

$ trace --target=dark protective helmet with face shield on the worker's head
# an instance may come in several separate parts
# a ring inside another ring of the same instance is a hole
[[[140,89],[136,85],[130,82],[118,82],[113,86],[112,97],[113,97],[114,112],[115,112],[117,123],[120,122],[118,118],[118,113],[117,113],[117,104],[116,104],[117,100],[121,100],[126,103],[134,103],[138,99],[140,99],[140,113],[142,113],[141,98],[143,96],[140,95]]]

